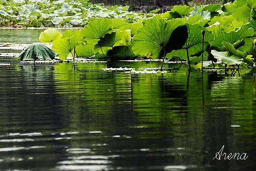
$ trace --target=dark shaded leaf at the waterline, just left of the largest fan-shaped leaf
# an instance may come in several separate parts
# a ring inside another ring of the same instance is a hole
[[[112,59],[131,59],[136,57],[136,55],[132,51],[131,45],[114,47],[107,52],[107,56]]]

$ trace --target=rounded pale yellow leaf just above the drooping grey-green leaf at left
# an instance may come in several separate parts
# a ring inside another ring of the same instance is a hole
[[[46,29],[43,32],[41,32],[38,40],[43,43],[53,43],[61,37],[62,34],[56,29]]]

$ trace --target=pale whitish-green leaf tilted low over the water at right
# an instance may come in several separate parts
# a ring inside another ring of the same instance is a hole
[[[220,59],[224,64],[227,65],[234,65],[234,64],[241,64],[243,58],[231,55],[229,52],[218,52],[216,50],[211,50],[214,58]]]

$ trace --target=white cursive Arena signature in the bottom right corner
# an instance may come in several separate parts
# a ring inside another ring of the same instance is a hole
[[[245,160],[245,159],[247,159],[249,157],[248,155],[246,155],[246,153],[242,153],[241,155],[240,155],[240,153],[234,153],[234,154],[229,153],[227,155],[226,153],[223,153],[224,146],[225,145],[223,145],[222,148],[220,149],[220,151],[215,154],[215,157],[213,159],[220,160],[221,157],[223,157],[223,159],[225,159],[225,160],[226,159],[229,159],[229,160],[230,159]]]

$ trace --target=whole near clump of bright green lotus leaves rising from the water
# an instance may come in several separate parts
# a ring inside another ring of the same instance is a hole
[[[39,40],[52,42],[62,60],[71,53],[73,58],[181,60],[189,70],[202,60],[211,61],[213,67],[217,60],[237,68],[256,66],[255,0],[174,6],[170,12],[132,24],[118,18],[95,19],[81,30],[66,30],[62,37],[49,30]]]

